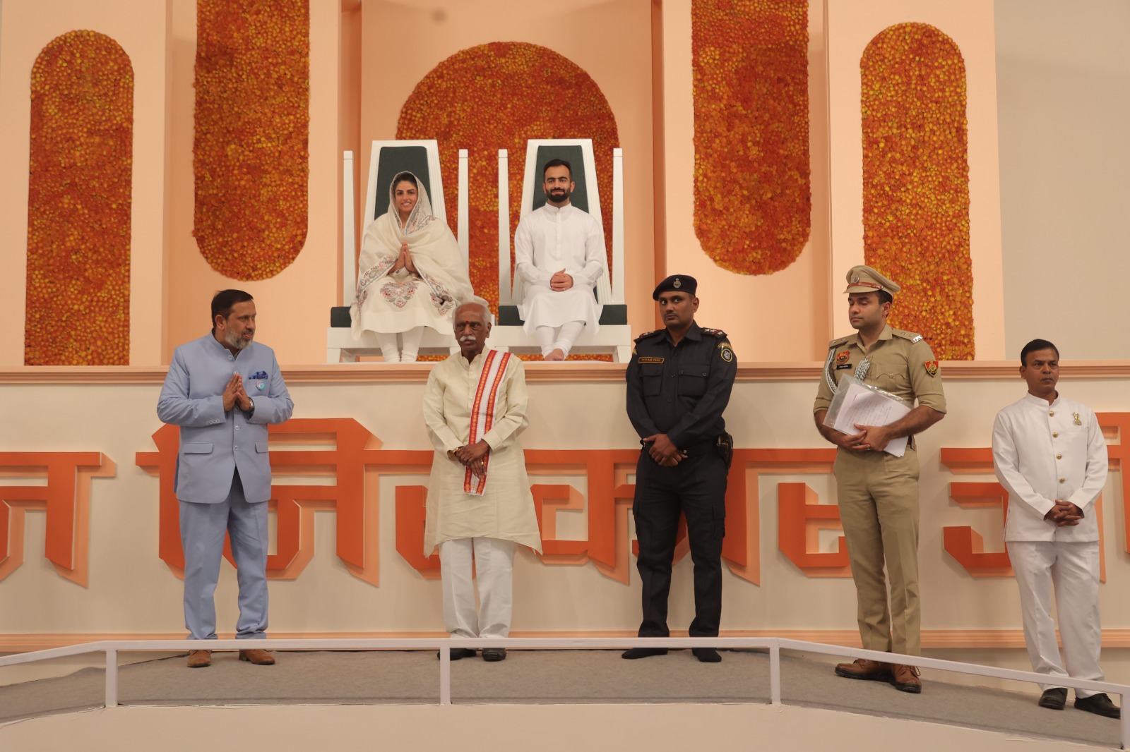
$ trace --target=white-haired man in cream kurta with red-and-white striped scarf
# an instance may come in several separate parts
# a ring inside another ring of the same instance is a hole
[[[459,353],[437,364],[424,392],[424,421],[435,446],[428,480],[424,554],[440,546],[443,619],[453,637],[506,637],[514,548],[540,553],[541,533],[518,435],[525,419],[522,361],[486,348],[490,312],[480,303],[455,309]],[[481,609],[475,609],[471,557]],[[475,655],[452,648],[451,659]],[[503,661],[504,648],[484,648]]]

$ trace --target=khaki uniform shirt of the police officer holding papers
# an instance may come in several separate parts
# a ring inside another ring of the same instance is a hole
[[[855,373],[864,358],[871,361],[862,379],[864,384],[901,396],[910,404],[918,400],[919,404],[946,412],[941,371],[930,346],[921,334],[892,329],[888,324],[883,327],[870,351],[863,349],[858,332],[828,342],[828,358],[820,374],[814,413],[827,410],[832,404],[834,394],[827,377],[831,376],[838,385],[844,376]]]

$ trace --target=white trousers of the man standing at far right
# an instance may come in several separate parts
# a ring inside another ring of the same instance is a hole
[[[1098,543],[1086,541],[1009,541],[1016,584],[1020,587],[1024,642],[1032,670],[1049,676],[1071,676],[1103,681],[1098,666],[1102,627],[1098,620]],[[1063,659],[1060,661],[1052,621],[1051,594],[1055,588],[1055,611]],[[1049,690],[1058,684],[1041,684]],[[1076,690],[1077,697],[1095,692]]]

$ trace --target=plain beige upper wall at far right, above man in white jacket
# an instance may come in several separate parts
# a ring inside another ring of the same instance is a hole
[[[1009,358],[1127,358],[1130,3],[997,0]]]

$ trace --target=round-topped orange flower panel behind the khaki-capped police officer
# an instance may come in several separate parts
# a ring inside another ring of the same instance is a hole
[[[973,263],[965,62],[927,24],[899,24],[860,61],[863,254],[903,291],[893,326],[945,360],[972,360]]]

